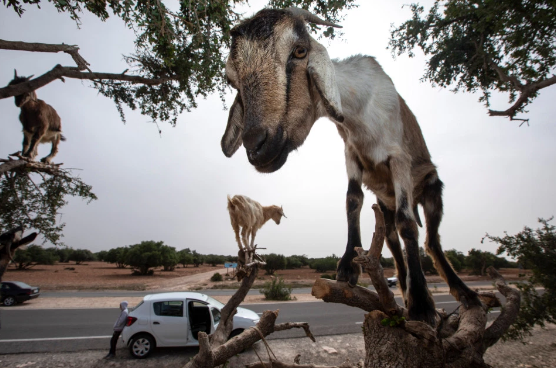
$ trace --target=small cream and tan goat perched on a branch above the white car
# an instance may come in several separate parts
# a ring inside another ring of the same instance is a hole
[[[257,231],[268,220],[273,219],[276,225],[280,225],[282,216],[286,217],[282,207],[262,206],[259,202],[242,195],[236,195],[233,198],[228,196],[228,212],[240,251],[254,250]],[[239,239],[240,228],[243,246]],[[250,242],[249,237],[251,237]]]

